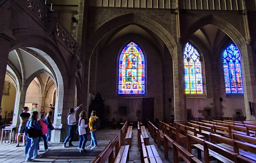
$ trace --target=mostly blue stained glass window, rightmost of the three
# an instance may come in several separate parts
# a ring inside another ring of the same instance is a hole
[[[238,48],[231,43],[223,53],[226,93],[243,93],[241,57]]]

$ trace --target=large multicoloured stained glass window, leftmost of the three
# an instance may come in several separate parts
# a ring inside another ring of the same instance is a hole
[[[145,94],[145,58],[134,42],[124,47],[119,58],[119,94]]]

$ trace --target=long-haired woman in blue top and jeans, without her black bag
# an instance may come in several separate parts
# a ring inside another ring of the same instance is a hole
[[[31,113],[31,118],[29,119],[29,121],[26,124],[26,128],[30,129],[30,128],[34,127],[37,130],[42,130],[40,125],[37,122],[37,118],[38,118],[38,112],[37,111],[32,112]],[[42,155],[37,154],[37,147],[39,145],[38,137],[29,137],[29,139],[31,141],[31,145],[29,147],[29,151],[27,153],[27,158],[26,158],[25,162],[33,162],[35,158],[42,157]],[[34,159],[32,159],[32,157]]]

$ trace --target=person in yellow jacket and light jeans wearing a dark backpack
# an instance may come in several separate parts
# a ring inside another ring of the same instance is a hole
[[[91,144],[88,146],[88,148],[91,148],[91,149],[97,149],[96,129],[92,125],[94,122],[94,119],[99,119],[99,118],[96,116],[96,111],[93,110],[91,113],[91,117],[89,118],[89,128],[90,128],[92,141],[91,141]]]

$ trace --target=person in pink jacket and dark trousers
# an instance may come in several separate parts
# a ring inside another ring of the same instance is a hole
[[[48,145],[47,145],[47,139],[46,139],[46,134],[48,133],[48,122],[45,120],[45,115],[44,114],[40,114],[39,116],[40,119],[38,119],[38,123],[40,124],[42,131],[43,131],[43,135],[42,135],[42,139],[44,141],[44,151],[48,151]],[[41,137],[38,137],[38,142],[40,143]],[[38,150],[39,150],[39,143],[38,143]]]

